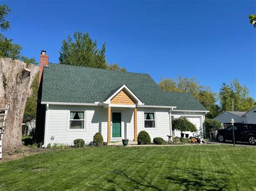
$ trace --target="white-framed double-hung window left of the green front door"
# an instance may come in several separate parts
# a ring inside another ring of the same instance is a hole
[[[84,129],[84,111],[70,111],[69,129]]]

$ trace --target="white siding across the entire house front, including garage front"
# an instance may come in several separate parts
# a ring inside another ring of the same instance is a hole
[[[85,129],[75,130],[69,129],[69,111],[85,111]],[[134,139],[134,117],[133,108],[111,108],[112,112],[122,112],[122,138]],[[144,111],[154,112],[156,114],[156,128],[144,128]],[[172,116],[180,117],[182,115],[178,112],[173,112]],[[203,128],[203,114],[194,112],[186,116],[194,123],[198,129]],[[90,143],[93,135],[96,132],[101,132],[104,141],[107,141],[107,109],[103,107],[94,106],[69,106],[69,105],[50,105],[46,112],[46,129],[44,143],[65,143],[68,145],[73,144],[74,139],[82,138],[86,143]],[[156,108],[138,108],[137,112],[137,126],[138,133],[140,131],[147,131],[153,140],[154,137],[161,137],[168,140],[167,135],[170,135],[170,119],[169,109],[156,109]],[[112,128],[111,128],[112,130]],[[175,136],[180,133],[175,132]],[[112,135],[112,132],[111,132]],[[51,142],[51,137],[54,140]],[[173,135],[174,136],[174,135]],[[118,138],[120,140],[121,138]],[[112,138],[111,140],[116,140]]]

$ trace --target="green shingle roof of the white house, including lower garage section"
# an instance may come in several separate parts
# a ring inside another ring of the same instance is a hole
[[[49,64],[43,73],[43,102],[102,102],[125,84],[145,105],[206,110],[186,93],[163,92],[149,74],[116,72],[80,66]]]

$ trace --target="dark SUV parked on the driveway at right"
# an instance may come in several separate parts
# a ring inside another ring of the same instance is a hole
[[[235,142],[249,142],[256,144],[256,124],[238,124],[234,125]],[[216,131],[216,139],[219,142],[233,140],[232,126]]]

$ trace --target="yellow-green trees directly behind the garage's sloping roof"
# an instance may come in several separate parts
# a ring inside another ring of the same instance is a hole
[[[209,87],[200,86],[196,78],[189,79],[179,76],[175,80],[161,79],[159,86],[163,91],[190,93],[210,111],[206,115],[208,118],[213,118],[219,114],[219,107],[215,103],[217,94],[213,93]]]

